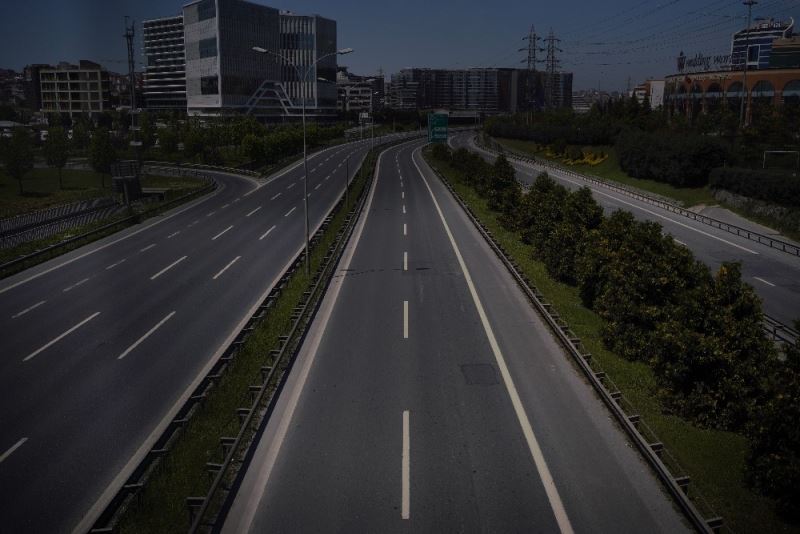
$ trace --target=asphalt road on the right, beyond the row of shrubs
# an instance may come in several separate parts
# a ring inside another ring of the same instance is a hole
[[[452,146],[474,150],[492,161],[494,156],[477,147],[474,133],[454,136]],[[509,160],[517,170],[517,178],[530,184],[545,169],[536,165]],[[723,262],[739,261],[742,277],[752,285],[764,302],[764,311],[791,326],[800,319],[800,258],[743,237],[694,221],[687,217],[642,202],[635,198],[546,169],[548,174],[570,189],[589,187],[595,200],[608,214],[614,210],[630,211],[639,220],[655,221],[664,232],[684,246],[695,257],[716,270]]]

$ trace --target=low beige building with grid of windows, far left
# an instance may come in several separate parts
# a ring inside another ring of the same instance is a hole
[[[94,115],[109,104],[108,72],[97,63],[81,60],[78,65],[59,63],[39,69],[41,111],[69,115]]]

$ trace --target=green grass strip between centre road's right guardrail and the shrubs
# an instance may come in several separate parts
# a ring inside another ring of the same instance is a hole
[[[600,363],[624,396],[658,435],[668,451],[692,477],[692,490],[699,490],[716,514],[736,532],[798,532],[800,528],[781,521],[774,503],[754,494],[744,482],[747,441],[731,432],[693,426],[664,412],[652,370],[644,363],[631,362],[608,351],[600,337],[601,319],[583,306],[578,289],[553,280],[532,248],[509,232],[489,210],[486,200],[461,180],[449,166],[428,160],[438,168],[494,238],[513,256],[521,270],[548,302],[581,338],[586,349]],[[566,354],[565,354],[565,357]],[[702,509],[702,508],[701,508]]]

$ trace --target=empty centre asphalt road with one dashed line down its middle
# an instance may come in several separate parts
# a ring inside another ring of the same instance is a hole
[[[383,154],[223,531],[686,531],[420,146]]]

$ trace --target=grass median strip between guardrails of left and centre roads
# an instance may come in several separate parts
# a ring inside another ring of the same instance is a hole
[[[353,182],[352,198],[364,191],[366,176],[375,159],[368,159]],[[353,202],[351,200],[351,202]],[[347,212],[340,209],[312,250],[312,272],[345,223]],[[200,411],[191,419],[175,446],[146,484],[136,503],[122,516],[118,532],[186,532],[189,517],[186,497],[204,496],[210,487],[206,462],[223,460],[219,438],[239,431],[238,408],[250,406],[248,388],[260,383],[262,365],[271,365],[269,351],[278,348],[278,337],[289,333],[295,306],[309,289],[311,280],[298,269],[265,318],[248,337],[242,351],[232,360],[220,383],[211,391]]]

